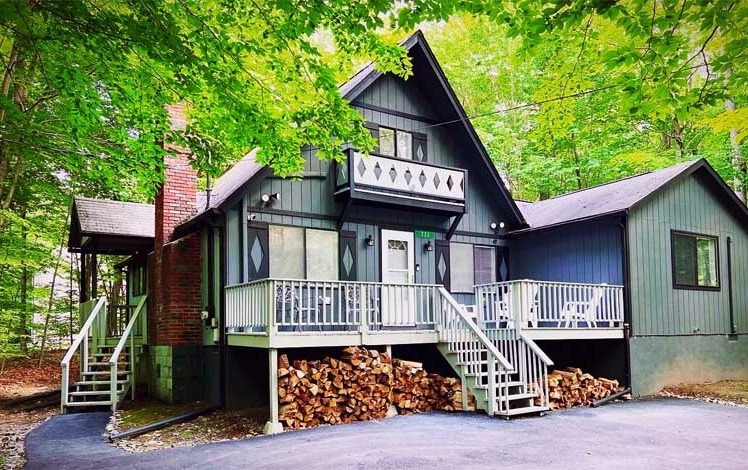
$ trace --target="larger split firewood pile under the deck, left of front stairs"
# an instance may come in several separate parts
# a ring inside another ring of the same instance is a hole
[[[287,429],[383,419],[398,413],[460,410],[460,381],[428,374],[420,363],[393,361],[376,350],[349,347],[340,359],[278,359],[279,419]]]

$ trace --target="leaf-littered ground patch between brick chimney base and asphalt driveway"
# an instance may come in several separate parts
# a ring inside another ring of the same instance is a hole
[[[131,403],[112,416],[107,426],[107,434],[113,435],[204,406],[205,404],[200,402],[180,406],[143,401]],[[116,440],[114,445],[129,452],[148,452],[208,442],[246,439],[262,434],[265,421],[267,410],[214,411],[185,423],[133,438]]]

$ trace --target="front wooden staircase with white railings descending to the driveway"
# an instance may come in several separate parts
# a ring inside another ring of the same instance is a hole
[[[463,409],[467,409],[469,389],[476,408],[490,415],[509,418],[547,411],[547,367],[553,362],[516,330],[487,336],[464,305],[446,290],[440,291],[438,349],[460,375]]]

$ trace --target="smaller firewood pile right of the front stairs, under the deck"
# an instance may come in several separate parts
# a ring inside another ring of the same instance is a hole
[[[623,390],[617,380],[593,377],[576,367],[554,370],[548,374],[548,395],[550,408],[571,408],[587,406]]]

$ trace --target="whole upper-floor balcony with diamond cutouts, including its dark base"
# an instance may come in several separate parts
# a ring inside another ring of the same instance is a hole
[[[434,212],[465,212],[467,170],[348,150],[338,163],[336,197]]]

